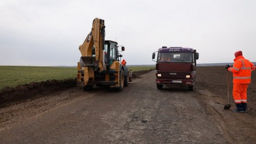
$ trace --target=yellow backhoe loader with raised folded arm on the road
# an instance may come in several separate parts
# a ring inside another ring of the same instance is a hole
[[[91,90],[94,85],[107,86],[121,91],[132,81],[132,70],[120,63],[121,51],[125,47],[117,42],[105,40],[105,22],[95,18],[91,32],[79,46],[81,53],[77,65],[77,81],[84,90]]]

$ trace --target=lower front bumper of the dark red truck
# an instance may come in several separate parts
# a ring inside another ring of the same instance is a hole
[[[194,81],[192,79],[156,79],[156,84],[192,86],[194,85]]]

